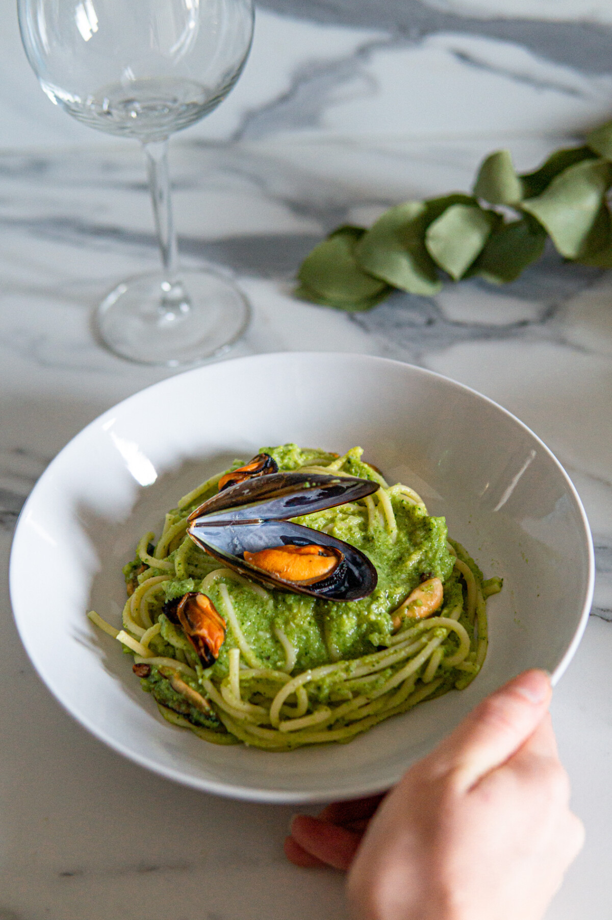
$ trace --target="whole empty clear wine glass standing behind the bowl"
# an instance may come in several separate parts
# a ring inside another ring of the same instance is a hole
[[[78,121],[141,141],[162,271],[122,282],[98,307],[111,351],[178,366],[244,332],[244,294],[211,270],[179,271],[168,136],[215,109],[244,67],[253,0],[17,0],[28,61],[55,105]]]

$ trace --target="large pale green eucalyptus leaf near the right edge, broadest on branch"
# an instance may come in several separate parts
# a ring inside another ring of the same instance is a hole
[[[594,246],[595,222],[610,183],[610,164],[585,160],[565,169],[541,195],[523,201],[522,207],[548,231],[562,256],[577,259]]]

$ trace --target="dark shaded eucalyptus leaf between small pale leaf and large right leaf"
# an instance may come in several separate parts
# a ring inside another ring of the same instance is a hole
[[[526,214],[493,230],[469,274],[493,284],[514,282],[527,265],[539,259],[545,244],[546,230]]]

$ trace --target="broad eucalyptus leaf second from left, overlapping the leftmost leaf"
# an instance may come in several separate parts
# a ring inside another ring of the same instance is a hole
[[[382,214],[357,243],[361,268],[402,291],[439,291],[436,263],[425,248],[426,216],[421,201],[405,201]]]

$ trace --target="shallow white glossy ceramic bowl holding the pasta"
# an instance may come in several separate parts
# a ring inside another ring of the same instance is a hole
[[[421,493],[451,535],[504,578],[489,602],[482,673],[349,744],[265,753],[169,725],[130,658],[87,610],[119,627],[121,567],[164,510],[265,444],[360,444],[391,482]],[[503,408],[421,368],[346,354],[284,353],[201,367],[149,387],[74,438],[17,524],[10,589],[34,667],[114,750],[209,792],[269,802],[388,788],[483,696],[526,668],[558,680],[580,641],[594,581],[583,506],[548,448]]]

